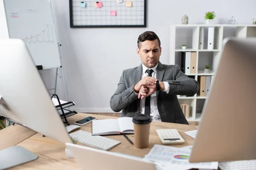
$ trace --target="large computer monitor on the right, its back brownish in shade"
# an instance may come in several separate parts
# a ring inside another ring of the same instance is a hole
[[[256,38],[224,44],[190,162],[256,159]]]

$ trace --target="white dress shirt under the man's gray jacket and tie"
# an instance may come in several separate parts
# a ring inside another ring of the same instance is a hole
[[[158,65],[158,63],[157,63],[157,65]],[[145,65],[142,64],[143,71],[142,71],[141,79],[143,77],[148,76],[148,73],[146,72],[147,69],[154,70],[154,72],[152,73],[152,77],[157,79],[157,77],[156,77],[157,76],[157,74],[156,74],[157,65],[154,66],[153,68],[147,68]],[[165,85],[164,92],[169,93],[169,89],[170,89],[169,83],[168,82],[163,82],[163,83]],[[135,93],[135,94],[138,95],[139,93]],[[140,114],[144,114],[144,112],[145,112],[145,98],[140,100],[140,109],[139,109]],[[159,112],[157,110],[157,93],[156,92],[151,94],[151,97],[150,97],[150,116],[152,116],[152,120],[161,121],[160,116],[159,116]]]

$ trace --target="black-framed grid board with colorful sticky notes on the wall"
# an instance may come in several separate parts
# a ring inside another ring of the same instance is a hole
[[[146,0],[70,0],[70,28],[146,27]]]

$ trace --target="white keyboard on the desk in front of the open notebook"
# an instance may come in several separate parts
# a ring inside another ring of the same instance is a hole
[[[76,132],[70,133],[69,135],[76,139],[77,142],[100,150],[110,150],[112,147],[115,147],[121,143],[119,141],[103,136],[92,136],[92,133],[86,132],[84,130],[78,130]]]

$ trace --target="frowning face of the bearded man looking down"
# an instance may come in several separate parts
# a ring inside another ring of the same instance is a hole
[[[137,48],[137,54],[143,65],[147,68],[153,68],[159,62],[161,47],[159,47],[157,39],[154,41],[146,40],[140,42],[140,48]]]

